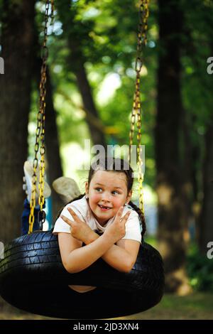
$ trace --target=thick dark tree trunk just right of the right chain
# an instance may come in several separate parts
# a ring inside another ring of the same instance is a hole
[[[180,169],[180,33],[178,0],[159,0],[160,52],[155,156],[158,193],[158,240],[165,264],[165,289],[187,293],[185,275],[186,196]]]

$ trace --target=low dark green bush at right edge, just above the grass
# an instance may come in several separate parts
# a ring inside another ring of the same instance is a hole
[[[200,254],[193,244],[187,256],[187,273],[196,291],[213,291],[213,260]]]

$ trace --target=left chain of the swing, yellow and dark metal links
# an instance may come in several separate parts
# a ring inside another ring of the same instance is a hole
[[[37,183],[36,170],[38,168],[38,149],[40,146],[40,175],[39,175],[39,198],[38,204],[40,205],[40,212],[43,210],[44,197],[43,197],[43,188],[44,188],[44,175],[45,175],[45,95],[46,89],[45,84],[47,81],[47,59],[48,59],[48,18],[49,18],[49,9],[51,6],[50,17],[53,20],[53,11],[54,11],[54,1],[45,0],[45,25],[44,25],[44,37],[43,37],[43,46],[41,50],[42,65],[40,70],[40,85],[39,85],[39,109],[37,114],[37,127],[35,131],[35,156],[33,160],[33,177],[32,177],[32,192],[31,192],[31,214],[29,216],[29,230],[28,234],[33,232],[33,224],[35,222],[34,209],[35,209],[35,189]]]

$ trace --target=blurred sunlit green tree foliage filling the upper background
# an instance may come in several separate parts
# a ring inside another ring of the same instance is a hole
[[[42,8],[41,2],[38,2],[38,31],[42,28]],[[77,64],[70,62],[72,50],[68,47],[67,39],[71,38],[74,44],[80,45],[92,95],[99,117],[106,128],[108,144],[128,144],[135,86],[138,0],[55,0],[55,8],[54,29],[48,38],[48,63],[54,88],[60,143],[63,145],[77,141],[82,145],[83,139],[89,138],[85,112],[82,110],[82,97],[73,74]],[[212,76],[208,75],[206,70],[207,58],[212,55],[212,2],[182,0],[180,8],[183,13],[183,33],[180,38],[182,103],[191,145],[199,151],[195,168],[197,173],[200,173],[204,134],[209,120],[212,119]],[[153,132],[157,95],[158,34],[158,1],[153,0],[150,2],[148,44],[143,50],[144,67],[141,76],[142,144],[146,145],[145,181],[152,187],[155,186]],[[116,88],[106,88],[111,91],[106,100],[100,92],[109,75],[114,75],[115,80],[120,83]],[[184,159],[185,142],[184,139],[182,141]],[[199,185],[201,184],[200,179]]]

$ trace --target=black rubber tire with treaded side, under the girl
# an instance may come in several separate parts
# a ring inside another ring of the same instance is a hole
[[[97,286],[77,293],[69,284]],[[143,244],[133,269],[121,273],[102,259],[77,274],[62,265],[58,237],[33,232],[14,239],[0,262],[0,294],[13,306],[56,318],[114,318],[145,311],[163,296],[163,261]]]

